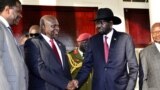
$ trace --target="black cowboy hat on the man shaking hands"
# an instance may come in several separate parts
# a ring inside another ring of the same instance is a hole
[[[97,11],[97,16],[94,19],[94,21],[98,21],[98,20],[106,20],[106,21],[111,20],[115,25],[121,23],[121,19],[119,17],[114,16],[112,10],[109,8],[100,8]]]

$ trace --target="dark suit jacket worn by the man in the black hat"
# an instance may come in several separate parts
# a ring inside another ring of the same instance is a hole
[[[106,64],[103,35],[93,36],[89,41],[83,66],[76,77],[80,85],[87,78],[92,68],[92,90],[134,90],[138,64],[131,37],[114,30],[109,49],[109,59]]]

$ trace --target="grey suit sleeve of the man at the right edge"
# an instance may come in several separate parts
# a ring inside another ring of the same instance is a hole
[[[144,55],[144,52],[141,51],[139,55],[139,90],[148,90],[147,70],[147,57]]]

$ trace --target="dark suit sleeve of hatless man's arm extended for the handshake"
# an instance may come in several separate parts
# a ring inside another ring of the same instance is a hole
[[[25,43],[25,55],[27,66],[32,73],[53,86],[63,90],[66,88],[69,80],[64,75],[57,75],[56,72],[46,66],[41,58],[38,46],[32,41]]]

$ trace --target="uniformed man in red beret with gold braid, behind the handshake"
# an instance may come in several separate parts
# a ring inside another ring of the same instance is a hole
[[[77,38],[77,47],[68,52],[69,63],[71,66],[72,78],[75,78],[78,71],[82,67],[84,61],[85,51],[87,49],[88,40],[91,37],[89,33],[82,33]],[[86,82],[80,87],[79,90],[91,90],[92,75],[90,74]]]

